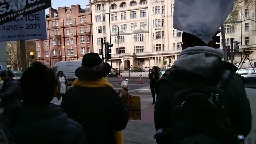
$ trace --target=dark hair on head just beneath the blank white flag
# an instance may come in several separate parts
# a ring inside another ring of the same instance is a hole
[[[182,42],[184,46],[183,49],[187,47],[207,45],[200,38],[186,32],[182,33]]]

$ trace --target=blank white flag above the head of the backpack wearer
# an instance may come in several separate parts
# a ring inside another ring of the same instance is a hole
[[[233,9],[233,0],[175,0],[173,28],[206,44]]]

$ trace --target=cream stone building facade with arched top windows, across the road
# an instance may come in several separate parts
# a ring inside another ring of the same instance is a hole
[[[241,42],[234,62],[241,61],[244,49],[249,51],[251,60],[256,59],[255,7],[246,4],[248,1],[239,2],[234,1],[234,9],[242,4],[238,15],[244,16],[238,20],[240,23],[226,22],[224,29],[226,45],[230,45],[230,39]],[[121,70],[164,68],[173,65],[178,58],[182,50],[182,31],[172,27],[174,0],[90,0],[90,4],[93,50],[102,54],[101,37],[112,43],[112,59],[107,61],[112,67]]]

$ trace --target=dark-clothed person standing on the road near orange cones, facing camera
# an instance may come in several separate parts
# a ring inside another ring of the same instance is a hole
[[[148,78],[150,79],[150,90],[152,94],[152,105],[155,104],[155,89],[156,89],[156,82],[160,78],[159,69],[156,66],[153,66],[152,69],[149,71]]]

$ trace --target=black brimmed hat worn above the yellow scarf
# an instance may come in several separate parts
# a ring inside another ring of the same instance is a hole
[[[98,53],[87,53],[82,60],[82,66],[78,67],[75,75],[79,79],[93,81],[105,77],[111,71],[111,66],[104,63]]]

